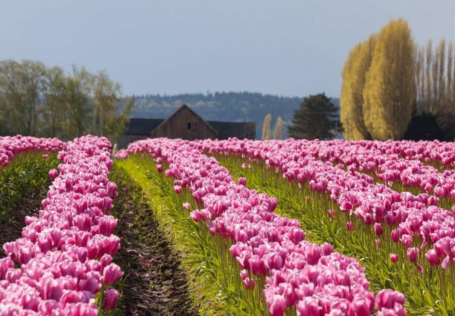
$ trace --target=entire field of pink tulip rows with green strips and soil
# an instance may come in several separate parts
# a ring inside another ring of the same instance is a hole
[[[0,137],[0,315],[455,315],[455,143]]]

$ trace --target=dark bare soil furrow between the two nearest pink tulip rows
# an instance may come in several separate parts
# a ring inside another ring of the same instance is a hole
[[[197,315],[179,256],[159,229],[142,189],[116,168],[111,181],[118,184],[111,214],[118,218],[115,234],[122,240],[114,262],[125,273],[116,286],[122,296],[115,315]]]

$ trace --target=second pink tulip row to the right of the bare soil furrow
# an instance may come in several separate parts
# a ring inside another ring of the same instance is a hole
[[[354,168],[344,171],[342,165],[316,160],[301,150],[300,141],[198,141],[193,146],[214,154],[235,154],[265,161],[269,168],[280,171],[285,179],[307,183],[311,190],[326,192],[340,210],[354,214],[366,225],[373,225],[379,236],[384,225],[390,225],[392,241],[428,247],[425,258],[431,266],[443,268],[455,264],[455,206],[452,210],[436,207],[437,198],[426,193],[414,196],[409,192],[395,192],[386,185],[374,184],[366,174]],[[353,229],[348,222],[347,229]],[[443,243],[444,247],[441,247]],[[451,245],[451,246],[450,246]],[[419,270],[422,270],[418,266]]]

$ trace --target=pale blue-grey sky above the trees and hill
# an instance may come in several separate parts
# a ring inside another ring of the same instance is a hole
[[[0,59],[105,69],[125,94],[337,96],[349,50],[397,17],[455,40],[454,0],[0,0]]]

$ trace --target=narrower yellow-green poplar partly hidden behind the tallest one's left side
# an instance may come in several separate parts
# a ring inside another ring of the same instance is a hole
[[[343,84],[340,98],[340,120],[344,139],[370,139],[364,124],[363,104],[366,72],[375,47],[375,35],[357,44],[348,56],[343,68]]]

